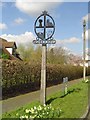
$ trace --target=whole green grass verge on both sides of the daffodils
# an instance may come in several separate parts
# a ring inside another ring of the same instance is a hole
[[[59,118],[80,118],[86,111],[88,104],[88,83],[80,81],[68,88],[68,94],[57,92],[47,98],[47,104],[55,109],[61,109]],[[38,101],[25,105],[15,111],[3,114],[3,118],[17,118],[25,114],[26,109],[39,106]]]

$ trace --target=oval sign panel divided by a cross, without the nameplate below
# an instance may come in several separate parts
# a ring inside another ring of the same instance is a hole
[[[53,18],[44,11],[43,14],[36,19],[34,30],[38,38],[48,40],[55,32],[55,22]]]

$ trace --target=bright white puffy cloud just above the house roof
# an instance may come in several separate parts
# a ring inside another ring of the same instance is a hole
[[[25,32],[24,34],[20,35],[3,34],[0,37],[8,41],[15,41],[17,45],[23,44],[25,46],[27,46],[28,43],[32,43],[32,41],[35,39],[32,32]]]

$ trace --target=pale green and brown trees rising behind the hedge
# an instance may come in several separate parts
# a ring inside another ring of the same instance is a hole
[[[41,62],[42,59],[42,47],[41,45],[30,44],[27,47],[20,44],[18,46],[18,52],[23,61]],[[76,62],[76,64],[82,62],[81,57],[75,56],[70,53],[70,51],[64,49],[63,47],[47,48],[47,63],[50,64],[71,64],[71,61]],[[72,62],[73,63],[73,62]]]

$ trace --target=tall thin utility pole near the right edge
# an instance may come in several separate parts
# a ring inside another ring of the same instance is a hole
[[[83,21],[83,80],[86,76],[86,21]]]

